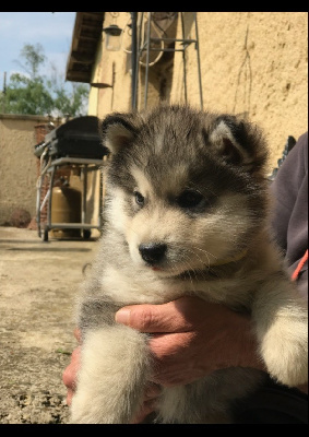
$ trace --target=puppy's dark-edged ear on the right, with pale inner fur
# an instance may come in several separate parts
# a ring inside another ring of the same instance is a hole
[[[248,172],[260,169],[268,157],[265,142],[258,127],[235,116],[216,118],[209,135],[219,156]]]

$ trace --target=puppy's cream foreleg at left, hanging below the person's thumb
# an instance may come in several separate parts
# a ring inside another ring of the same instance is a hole
[[[112,326],[84,339],[71,423],[128,424],[151,373],[145,334]]]

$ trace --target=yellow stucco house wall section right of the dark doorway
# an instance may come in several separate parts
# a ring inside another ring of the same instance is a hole
[[[191,16],[187,13],[189,36]],[[204,109],[242,114],[259,123],[276,166],[288,135],[308,129],[308,14],[199,12]],[[180,28],[179,28],[180,32]],[[188,94],[199,106],[197,56],[188,50]],[[175,57],[173,101],[183,101],[181,58]]]

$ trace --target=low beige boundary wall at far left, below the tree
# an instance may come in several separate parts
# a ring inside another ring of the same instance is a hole
[[[16,209],[35,216],[35,126],[47,122],[46,117],[0,114],[0,225],[10,223]]]

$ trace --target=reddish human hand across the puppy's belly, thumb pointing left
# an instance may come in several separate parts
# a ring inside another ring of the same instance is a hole
[[[163,305],[132,305],[116,321],[152,333],[152,381],[165,387],[190,383],[227,367],[264,369],[257,354],[250,318],[198,297]]]

